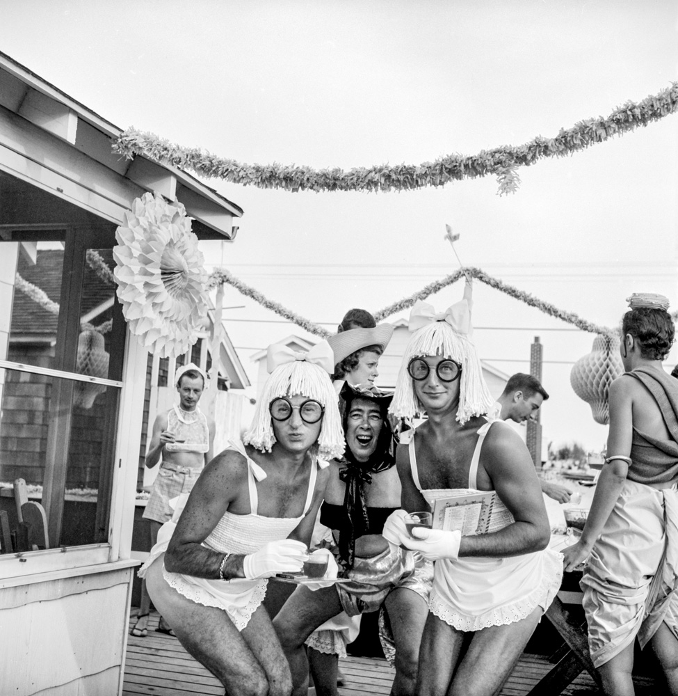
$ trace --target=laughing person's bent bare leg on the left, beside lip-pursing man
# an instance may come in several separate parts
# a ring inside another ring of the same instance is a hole
[[[335,587],[311,592],[308,587],[300,585],[275,617],[273,626],[289,661],[294,696],[305,696],[308,691],[305,640],[318,626],[337,616],[341,609]]]

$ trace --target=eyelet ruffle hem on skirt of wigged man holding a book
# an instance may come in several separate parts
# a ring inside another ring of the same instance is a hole
[[[494,607],[484,614],[468,615],[456,611],[449,602],[435,595],[433,590],[428,608],[433,615],[457,631],[481,631],[490,626],[515,624],[526,619],[538,606],[546,611],[558,594],[563,579],[563,554],[547,549],[544,551],[544,564],[546,567],[539,585],[517,602]]]

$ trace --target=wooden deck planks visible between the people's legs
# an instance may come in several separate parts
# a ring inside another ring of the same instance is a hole
[[[135,617],[130,621],[134,626]],[[154,631],[157,614],[151,615],[146,638],[129,635],[122,696],[223,696],[220,685],[197,663],[176,638]],[[526,696],[554,665],[539,655],[524,654],[501,690],[501,696]],[[382,659],[349,656],[339,663],[344,674],[341,696],[388,696],[394,670]],[[563,692],[565,695],[594,694],[595,684],[581,674]]]

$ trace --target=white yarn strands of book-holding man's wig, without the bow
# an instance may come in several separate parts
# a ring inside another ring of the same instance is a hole
[[[462,366],[456,416],[460,423],[494,410],[495,401],[483,378],[483,368],[474,343],[467,334],[455,331],[447,322],[434,321],[414,331],[407,343],[389,413],[411,421],[423,412],[423,406],[414,394],[414,380],[407,372],[412,358],[423,356],[444,356]]]

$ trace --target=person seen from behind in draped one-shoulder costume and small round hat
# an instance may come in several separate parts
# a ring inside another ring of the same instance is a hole
[[[565,570],[586,561],[588,644],[604,693],[632,694],[633,645],[650,642],[678,694],[678,382],[668,300],[633,294],[622,319],[624,374],[610,386],[608,457]]]

